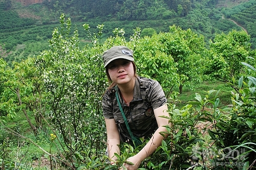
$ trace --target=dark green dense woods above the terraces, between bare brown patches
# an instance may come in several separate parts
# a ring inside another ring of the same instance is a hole
[[[184,14],[191,9],[191,2],[176,1],[172,8],[169,8],[165,1],[51,1],[44,2],[44,5],[56,15],[61,12],[67,13],[74,20],[101,19],[109,20],[145,20],[173,17],[176,15],[177,5],[181,4]],[[70,8],[71,7],[71,8]],[[98,11],[101,11],[100,13]]]

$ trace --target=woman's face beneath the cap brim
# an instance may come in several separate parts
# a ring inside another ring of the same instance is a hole
[[[134,67],[130,60],[116,59],[108,64],[111,80],[116,84],[129,83],[134,78]]]

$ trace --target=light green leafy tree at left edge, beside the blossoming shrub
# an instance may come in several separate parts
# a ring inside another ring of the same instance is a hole
[[[1,79],[2,95],[0,98],[0,108],[9,118],[13,119],[18,110],[22,111],[27,118],[30,127],[36,133],[36,126],[41,127],[41,112],[44,105],[39,104],[40,80],[37,77],[37,70],[32,58],[28,58],[21,63],[14,63],[14,68],[7,66],[1,59]],[[44,101],[42,101],[44,102]],[[28,111],[34,113],[36,125],[33,125]]]

